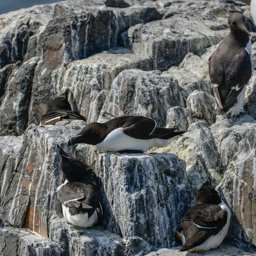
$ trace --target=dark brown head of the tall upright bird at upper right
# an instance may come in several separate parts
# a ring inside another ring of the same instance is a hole
[[[239,12],[233,12],[228,18],[228,25],[230,30],[235,33],[244,34],[244,36],[250,36],[250,32],[247,30],[245,25],[245,17]]]

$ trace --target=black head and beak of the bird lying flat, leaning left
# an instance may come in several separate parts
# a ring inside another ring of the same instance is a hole
[[[105,137],[104,125],[98,122],[92,122],[86,125],[78,135],[68,141],[68,145],[76,145],[78,143],[97,145],[101,143]]]

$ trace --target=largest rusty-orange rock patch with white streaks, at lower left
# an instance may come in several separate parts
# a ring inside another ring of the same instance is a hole
[[[35,218],[34,218],[35,213]],[[26,211],[25,218],[23,220],[22,227],[27,227],[30,230],[38,233],[40,236],[48,238],[47,235],[47,226],[42,220],[42,215],[38,207],[29,206]]]

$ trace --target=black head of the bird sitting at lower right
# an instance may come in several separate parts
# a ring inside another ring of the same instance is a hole
[[[196,204],[220,204],[221,197],[218,192],[214,189],[208,176],[207,181],[198,190],[195,197]]]

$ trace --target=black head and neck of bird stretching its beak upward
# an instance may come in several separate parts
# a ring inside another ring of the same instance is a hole
[[[81,160],[67,154],[58,144],[55,149],[61,157],[61,171],[68,181],[84,182],[84,178],[90,175],[92,169]]]

